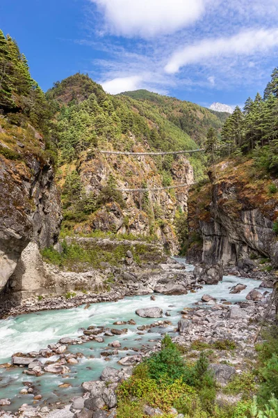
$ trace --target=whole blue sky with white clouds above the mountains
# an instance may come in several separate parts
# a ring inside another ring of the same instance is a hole
[[[0,28],[44,91],[80,71],[109,93],[241,105],[278,66],[277,0],[1,0]]]

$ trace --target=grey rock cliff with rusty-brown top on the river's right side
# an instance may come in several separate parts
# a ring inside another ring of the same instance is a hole
[[[213,185],[191,193],[189,260],[243,266],[254,263],[250,257],[263,257],[278,266],[277,193],[270,196],[271,180],[252,173],[252,162],[237,167],[224,162]]]

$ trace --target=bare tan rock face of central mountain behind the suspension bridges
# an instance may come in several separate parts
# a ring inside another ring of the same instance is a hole
[[[144,152],[146,148],[136,146],[134,150]],[[77,167],[76,167],[77,168]],[[94,158],[85,157],[77,168],[85,194],[101,196],[113,178],[117,188],[163,187],[152,157],[129,157],[96,153]],[[194,181],[193,168],[186,157],[173,162],[171,174],[174,184],[188,184]],[[113,231],[134,236],[156,235],[172,254],[178,254],[179,242],[174,232],[177,211],[187,212],[188,187],[159,192],[122,192],[122,202],[104,203],[101,208],[88,215],[85,222],[74,225],[75,233],[92,231]]]

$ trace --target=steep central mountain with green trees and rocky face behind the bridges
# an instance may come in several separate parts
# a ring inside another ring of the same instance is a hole
[[[51,134],[59,150],[65,233],[153,236],[177,253],[187,189],[117,189],[193,183],[203,176],[204,156],[119,157],[99,150],[191,150],[195,141],[149,101],[108,95],[85,75],[56,83],[47,98],[56,111]]]

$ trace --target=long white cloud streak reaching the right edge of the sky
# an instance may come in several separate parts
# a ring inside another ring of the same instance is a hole
[[[229,38],[201,40],[195,45],[186,46],[174,52],[165,66],[165,71],[173,74],[188,64],[201,63],[205,65],[208,59],[252,55],[254,52],[264,52],[277,45],[277,28],[249,30]]]

